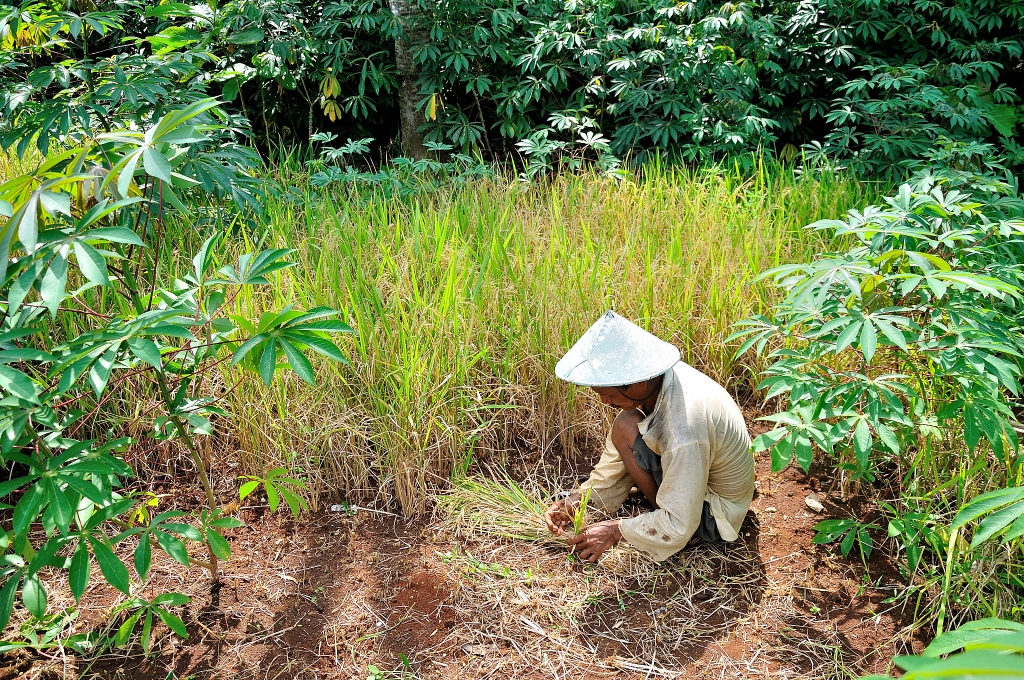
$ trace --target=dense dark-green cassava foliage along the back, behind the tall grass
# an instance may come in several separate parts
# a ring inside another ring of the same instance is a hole
[[[401,38],[427,141],[467,155],[543,169],[761,148],[900,177],[946,137],[1021,160],[1021,0],[399,4],[402,20],[382,0],[0,7],[3,143],[207,94],[231,102],[233,134],[386,143]]]

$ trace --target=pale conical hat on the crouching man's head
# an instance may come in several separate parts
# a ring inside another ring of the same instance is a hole
[[[577,385],[618,387],[659,376],[679,362],[675,345],[610,309],[555,366],[555,375]]]

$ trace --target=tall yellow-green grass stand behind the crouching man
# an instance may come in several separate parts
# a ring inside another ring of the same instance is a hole
[[[326,304],[357,333],[351,365],[321,365],[315,387],[253,378],[231,391],[230,445],[247,470],[306,468],[317,494],[383,493],[407,512],[475,458],[599,443],[607,414],[552,369],[607,308],[748,389],[751,367],[724,338],[773,299],[751,280],[808,259],[825,244],[802,227],[865,201],[849,179],[776,167],[484,180],[404,200],[317,192],[294,166],[276,178],[293,198],[271,199],[239,246],[296,248],[299,266],[240,311]],[[198,245],[194,226],[179,225],[178,256]]]

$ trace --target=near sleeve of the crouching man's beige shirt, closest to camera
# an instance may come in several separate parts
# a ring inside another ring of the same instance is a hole
[[[686,547],[700,522],[711,450],[707,441],[687,441],[663,452],[662,461],[665,477],[657,490],[659,508],[618,522],[624,539],[657,560]]]

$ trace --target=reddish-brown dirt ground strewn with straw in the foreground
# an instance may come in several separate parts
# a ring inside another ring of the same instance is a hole
[[[178,611],[187,640],[160,628],[152,657],[135,645],[92,664],[6,654],[0,680],[844,678],[920,649],[912,612],[886,602],[900,582],[881,551],[865,570],[811,544],[823,517],[870,505],[833,502],[827,479],[771,475],[764,459],[758,485],[740,542],[660,565],[616,549],[585,566],[380,510],[243,510],[220,584],[154,555],[147,594],[193,598]],[[805,504],[811,492],[824,513]],[[94,579],[80,625],[102,625],[113,601]]]

